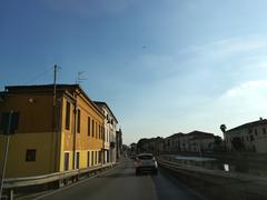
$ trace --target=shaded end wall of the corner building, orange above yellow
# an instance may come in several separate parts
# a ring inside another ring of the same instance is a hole
[[[0,103],[0,111],[19,111],[19,129],[10,137],[6,177],[38,176],[53,172],[52,97],[51,94],[12,94]],[[0,114],[1,116],[1,114]],[[4,137],[0,136],[0,168],[3,160]],[[26,162],[26,150],[36,149],[37,160]]]

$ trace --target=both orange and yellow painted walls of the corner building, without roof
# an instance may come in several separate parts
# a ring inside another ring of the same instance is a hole
[[[79,93],[72,91],[72,94]],[[28,177],[46,174],[65,169],[65,152],[69,152],[69,170],[73,169],[73,149],[80,151],[80,168],[87,168],[87,151],[98,152],[102,149],[102,137],[96,137],[99,124],[103,126],[103,116],[97,106],[89,101],[81,93],[77,97],[77,108],[80,110],[80,133],[75,134],[75,101],[66,93],[58,92],[58,106],[60,106],[61,129],[53,132],[53,106],[52,92],[42,93],[16,93],[9,96],[4,102],[0,103],[0,112],[19,111],[19,130],[11,136],[10,151],[7,166],[7,178]],[[70,128],[66,130],[66,102],[70,102]],[[1,114],[0,114],[1,116]],[[95,124],[95,137],[88,136],[88,117],[97,122]],[[76,146],[73,148],[73,139]],[[3,149],[3,136],[0,136],[0,148]],[[0,160],[3,160],[3,151],[0,150]],[[26,162],[26,150],[36,149],[37,160]],[[95,154],[95,153],[93,153]],[[96,158],[96,156],[93,156]],[[1,168],[2,162],[0,162]],[[99,164],[98,159],[93,164]]]

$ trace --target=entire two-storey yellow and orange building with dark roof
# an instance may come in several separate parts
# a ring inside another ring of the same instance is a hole
[[[10,138],[7,178],[101,164],[103,113],[78,84],[6,87],[3,112],[20,113]],[[0,119],[1,120],[1,119]],[[0,168],[4,137],[0,134]]]

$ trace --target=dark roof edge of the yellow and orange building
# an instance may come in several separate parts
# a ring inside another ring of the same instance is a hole
[[[6,86],[4,87],[4,94],[8,93],[23,93],[23,92],[51,92],[53,91],[55,84],[32,84],[32,86]],[[93,106],[93,108],[100,112],[102,116],[101,110],[98,108],[97,104],[88,97],[85,90],[79,84],[56,84],[57,91],[65,92],[66,90],[76,91],[79,90],[80,93]]]

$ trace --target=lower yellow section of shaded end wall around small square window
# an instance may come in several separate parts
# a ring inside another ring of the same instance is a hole
[[[6,178],[39,176],[52,172],[51,132],[18,133],[10,137]],[[0,136],[3,144],[3,136]],[[1,146],[2,148],[3,146]],[[26,161],[26,150],[36,149],[36,161]],[[3,151],[1,151],[2,164]]]

